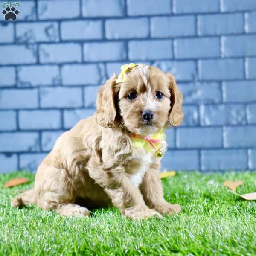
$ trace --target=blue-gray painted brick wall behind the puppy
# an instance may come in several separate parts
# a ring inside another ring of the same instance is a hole
[[[183,92],[163,169],[256,169],[256,0],[18,2],[0,13],[0,172],[34,171],[131,61]]]

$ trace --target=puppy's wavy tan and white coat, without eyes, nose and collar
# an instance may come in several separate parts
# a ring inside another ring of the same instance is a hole
[[[113,204],[132,219],[180,211],[163,198],[160,158],[131,143],[131,133],[151,136],[180,125],[182,94],[175,79],[144,64],[134,67],[126,81],[116,84],[116,79],[113,75],[100,87],[96,113],[58,138],[38,167],[34,188],[12,199],[13,207],[37,204],[61,215],[85,216],[90,211],[76,204],[83,198],[94,206]],[[130,93],[136,98],[129,99]],[[144,110],[154,113],[150,122],[143,121]]]

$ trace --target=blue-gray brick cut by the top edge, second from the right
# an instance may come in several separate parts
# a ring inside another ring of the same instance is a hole
[[[218,12],[219,0],[173,0],[174,13]]]

